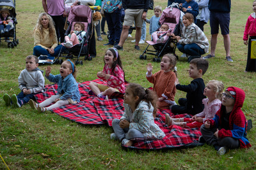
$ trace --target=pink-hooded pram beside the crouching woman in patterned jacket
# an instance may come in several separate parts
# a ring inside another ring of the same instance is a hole
[[[163,13],[159,19],[159,25],[167,24],[169,26],[170,32],[175,35],[180,35],[180,10],[178,8],[174,8],[175,5],[168,6],[166,9],[163,10]],[[166,53],[173,53],[175,54],[177,41],[171,39],[170,37],[164,43],[154,43],[153,41],[147,41],[148,46],[153,46],[155,50],[148,50],[147,48],[144,50],[142,55],[140,55],[140,59],[147,59],[147,55],[155,55],[157,57],[153,58],[154,62],[160,62],[160,57],[163,57]]]

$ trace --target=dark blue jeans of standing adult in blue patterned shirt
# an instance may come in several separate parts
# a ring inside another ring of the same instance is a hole
[[[109,31],[109,44],[118,45],[120,41],[120,36],[122,32],[122,22],[121,22],[121,14],[122,10],[117,8],[113,13],[107,13],[104,11],[106,21],[108,24],[108,31]]]

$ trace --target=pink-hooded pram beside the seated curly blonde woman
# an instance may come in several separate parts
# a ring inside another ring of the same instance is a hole
[[[92,29],[93,29],[93,25],[92,25],[92,9],[90,8],[90,6],[86,6],[86,5],[77,5],[77,6],[73,6],[70,9],[70,13],[68,14],[68,29],[65,33],[65,36],[67,36],[70,31],[74,30],[74,25],[76,22],[81,22],[84,24],[84,31],[86,32],[86,34],[83,36],[83,39],[81,41],[81,43],[72,46],[71,48],[67,48],[66,53],[67,55],[65,56],[61,56],[61,53],[59,53],[58,55],[58,59],[59,57],[66,57],[66,58],[70,58],[72,59],[75,56],[77,56],[77,60],[75,62],[75,64],[81,64],[83,65],[83,61],[80,60],[79,61],[79,57],[81,55],[84,56],[84,60],[92,60],[92,57],[90,57],[89,53],[88,53],[88,49],[90,46],[90,38],[92,38]],[[61,63],[62,60],[60,60]]]

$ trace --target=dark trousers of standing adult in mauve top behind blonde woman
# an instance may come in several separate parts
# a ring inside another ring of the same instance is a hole
[[[64,42],[64,38],[65,38],[64,25],[65,25],[66,17],[63,17],[63,15],[51,16],[51,17],[55,24],[58,41],[60,40],[61,42]]]

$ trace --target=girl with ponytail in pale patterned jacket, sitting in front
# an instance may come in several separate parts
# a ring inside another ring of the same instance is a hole
[[[132,146],[133,141],[163,139],[164,132],[155,124],[156,94],[141,85],[131,83],[124,94],[124,115],[115,118],[111,139],[119,139],[122,145]]]

